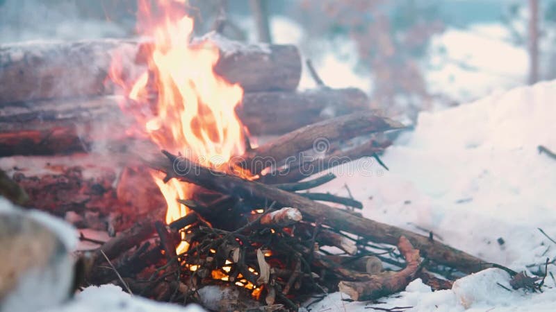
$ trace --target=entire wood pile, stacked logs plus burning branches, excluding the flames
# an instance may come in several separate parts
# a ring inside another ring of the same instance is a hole
[[[32,157],[0,159],[2,169],[26,189],[26,205],[115,234],[81,254],[82,286],[115,283],[130,293],[218,311],[295,311],[318,293],[339,289],[352,300],[374,300],[416,278],[449,288],[458,272],[490,266],[432,234],[363,218],[357,198],[309,191],[334,179],[322,174],[333,166],[361,157],[384,166],[379,155],[389,141],[382,132],[402,125],[375,116],[357,89],[320,82],[318,89],[296,91],[301,60],[295,46],[211,39],[221,53],[215,71],[245,89],[240,119],[255,135],[281,135],[257,148],[247,142],[245,155],[219,168],[177,150],[150,154],[129,144],[133,121],[120,112],[121,97],[106,83],[106,70],[114,51],[131,67],[142,66],[149,42],[0,46],[0,155],[50,155],[46,174],[26,168]],[[85,166],[67,165],[75,154],[64,156],[59,168],[51,164],[60,153],[95,146],[111,146],[117,168],[85,176]],[[166,182],[197,187],[193,198],[177,198],[190,213],[168,225],[165,203],[149,179],[153,169],[165,173]],[[188,248],[178,254],[184,242]],[[215,298],[215,291],[225,295]]]

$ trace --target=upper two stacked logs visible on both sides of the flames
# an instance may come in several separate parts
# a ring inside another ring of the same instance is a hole
[[[359,89],[297,91],[301,57],[295,46],[243,44],[211,33],[220,51],[215,72],[243,87],[237,114],[252,135],[281,135],[332,116],[368,110]],[[0,156],[89,151],[122,142],[133,123],[108,76],[111,62],[145,67],[145,40],[28,42],[0,45]],[[120,146],[126,146],[126,143]]]

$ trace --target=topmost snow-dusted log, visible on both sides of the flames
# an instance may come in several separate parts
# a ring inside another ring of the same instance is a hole
[[[293,90],[301,76],[301,56],[293,45],[243,44],[215,34],[220,49],[215,72],[247,92]],[[0,104],[49,98],[113,94],[106,82],[115,55],[126,67],[142,66],[149,49],[139,40],[25,42],[0,45]]]

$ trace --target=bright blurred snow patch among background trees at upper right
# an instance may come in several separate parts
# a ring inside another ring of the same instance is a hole
[[[436,35],[425,68],[430,91],[461,103],[523,85],[528,53],[509,37],[509,29],[500,23],[448,28]]]

